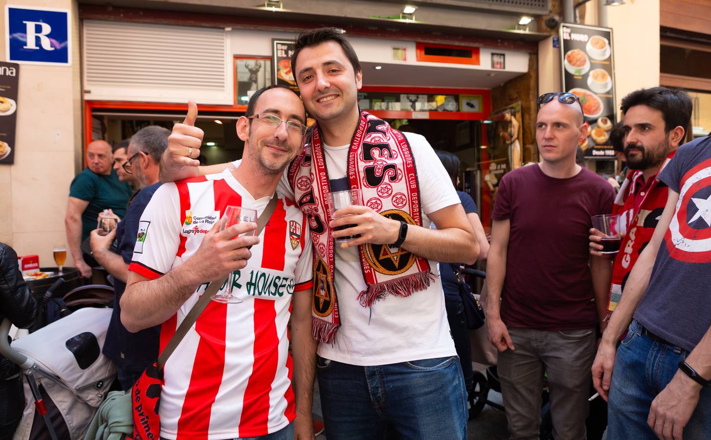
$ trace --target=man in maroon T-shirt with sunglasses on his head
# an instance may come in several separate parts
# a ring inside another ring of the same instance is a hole
[[[589,257],[588,230],[614,191],[575,163],[587,136],[578,98],[547,93],[538,106],[542,161],[501,178],[491,215],[486,324],[511,439],[538,439],[547,372],[553,436],[579,440],[611,274],[608,260]]]

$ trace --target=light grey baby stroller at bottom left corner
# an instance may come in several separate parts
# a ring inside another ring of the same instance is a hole
[[[0,324],[0,353],[25,377],[25,408],[14,440],[80,439],[116,378],[101,348],[110,308],[80,308],[14,340]]]

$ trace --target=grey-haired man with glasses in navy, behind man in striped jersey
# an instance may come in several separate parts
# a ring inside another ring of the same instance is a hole
[[[121,170],[127,176],[133,176],[141,189],[129,203],[126,217],[117,227],[107,235],[101,235],[102,231],[98,229],[91,232],[92,256],[114,277],[114,311],[102,352],[116,363],[119,384],[124,391],[134,385],[141,372],[158,356],[160,327],[129,333],[121,323],[119,301],[126,289],[139,220],[151,197],[161,186],[158,181],[160,161],[168,146],[170,134],[169,129],[156,125],[144,127],[134,134],[128,146],[130,156],[122,161]],[[112,246],[114,240],[118,247]]]

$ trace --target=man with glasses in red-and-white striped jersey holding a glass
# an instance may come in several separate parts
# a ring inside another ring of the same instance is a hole
[[[169,136],[184,156],[196,157],[203,139],[194,126],[197,112],[188,104],[188,116]],[[275,193],[284,168],[304,149],[304,122],[304,106],[292,90],[257,90],[237,120],[237,136],[245,141],[237,168],[165,183],[141,216],[120,304],[128,331],[161,326],[167,343],[210,281],[228,274],[220,290],[240,300],[210,302],[167,361],[161,438],[314,436],[309,225],[291,200]],[[144,160],[142,154],[132,159],[132,168]],[[276,207],[259,237],[254,222],[220,230],[229,205],[258,217],[272,198]]]

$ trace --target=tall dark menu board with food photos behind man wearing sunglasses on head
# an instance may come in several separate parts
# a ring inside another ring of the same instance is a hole
[[[588,136],[580,147],[587,159],[614,159],[609,141],[615,123],[612,30],[580,24],[560,25],[562,90],[580,98]]]

